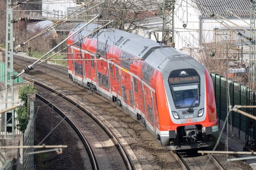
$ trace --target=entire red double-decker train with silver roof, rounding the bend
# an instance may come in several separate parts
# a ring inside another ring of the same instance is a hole
[[[67,41],[80,40],[68,47],[69,78],[122,106],[169,150],[212,146],[219,134],[206,68],[174,48],[117,29],[82,39],[98,27],[89,24]]]

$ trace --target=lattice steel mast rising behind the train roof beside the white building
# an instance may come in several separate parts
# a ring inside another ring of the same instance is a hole
[[[174,44],[174,5],[175,0],[164,0],[163,8],[163,44],[175,47]],[[171,34],[171,35],[170,35]]]

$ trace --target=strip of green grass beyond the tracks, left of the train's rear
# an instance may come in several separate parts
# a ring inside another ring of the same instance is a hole
[[[27,55],[29,55],[28,51],[27,51]],[[30,56],[31,57],[35,57],[35,58],[40,58],[44,55],[44,53],[40,53],[40,52],[37,52],[37,51],[31,51],[30,52]],[[45,57],[50,57],[51,55],[48,54],[46,55]],[[44,58],[45,59],[45,58]],[[53,57],[51,57],[51,59],[67,59],[67,55],[59,55],[59,54],[56,54],[54,55]],[[55,63],[55,64],[59,64],[59,65],[62,65],[62,66],[67,66],[68,65],[68,60],[53,60],[53,61],[50,61],[51,63]]]

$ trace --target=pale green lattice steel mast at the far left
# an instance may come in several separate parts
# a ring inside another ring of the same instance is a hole
[[[13,88],[13,17],[12,1],[6,1],[6,38],[5,38],[5,109],[14,106],[14,88]],[[7,137],[7,132],[12,133]],[[14,139],[14,109],[4,113],[4,139]]]

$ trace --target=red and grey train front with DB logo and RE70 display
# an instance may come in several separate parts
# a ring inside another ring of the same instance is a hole
[[[163,86],[157,86],[156,91],[158,94],[165,92],[157,99],[166,102],[165,106],[157,103],[162,144],[169,150],[214,145],[219,133],[214,89],[208,71],[185,55],[170,57],[161,70]],[[163,96],[165,99],[159,99]]]

